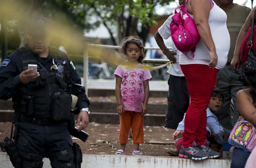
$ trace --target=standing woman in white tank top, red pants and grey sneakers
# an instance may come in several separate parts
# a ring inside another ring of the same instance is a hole
[[[218,70],[227,62],[230,36],[227,16],[212,0],[188,0],[187,11],[201,37],[195,56],[180,53],[180,67],[186,77],[190,105],[184,123],[184,141],[179,156],[202,160],[212,155],[206,141],[206,108],[210,102]]]

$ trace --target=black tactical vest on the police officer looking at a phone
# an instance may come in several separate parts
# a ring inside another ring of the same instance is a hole
[[[16,49],[16,53],[20,56],[23,70],[28,69],[28,64],[37,64],[40,76],[24,84],[13,97],[14,110],[28,117],[51,118],[54,94],[68,92],[70,86],[69,65],[65,53],[50,46],[49,57],[52,59],[49,69],[38,62],[37,56],[26,47]]]

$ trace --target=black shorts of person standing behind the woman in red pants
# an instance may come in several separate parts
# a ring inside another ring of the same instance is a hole
[[[168,80],[166,125],[170,129],[177,129],[189,105],[189,93],[185,76],[170,75]]]

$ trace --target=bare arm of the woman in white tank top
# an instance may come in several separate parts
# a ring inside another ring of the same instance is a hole
[[[210,1],[209,0],[188,0],[187,10],[194,16],[194,22],[198,33],[209,50],[210,68],[215,68],[218,62],[216,48],[212,39],[210,26],[208,23],[210,15]]]

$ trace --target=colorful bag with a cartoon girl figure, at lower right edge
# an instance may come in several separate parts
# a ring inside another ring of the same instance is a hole
[[[248,121],[236,122],[230,136],[228,143],[246,152],[251,152],[256,145],[255,127]]]

